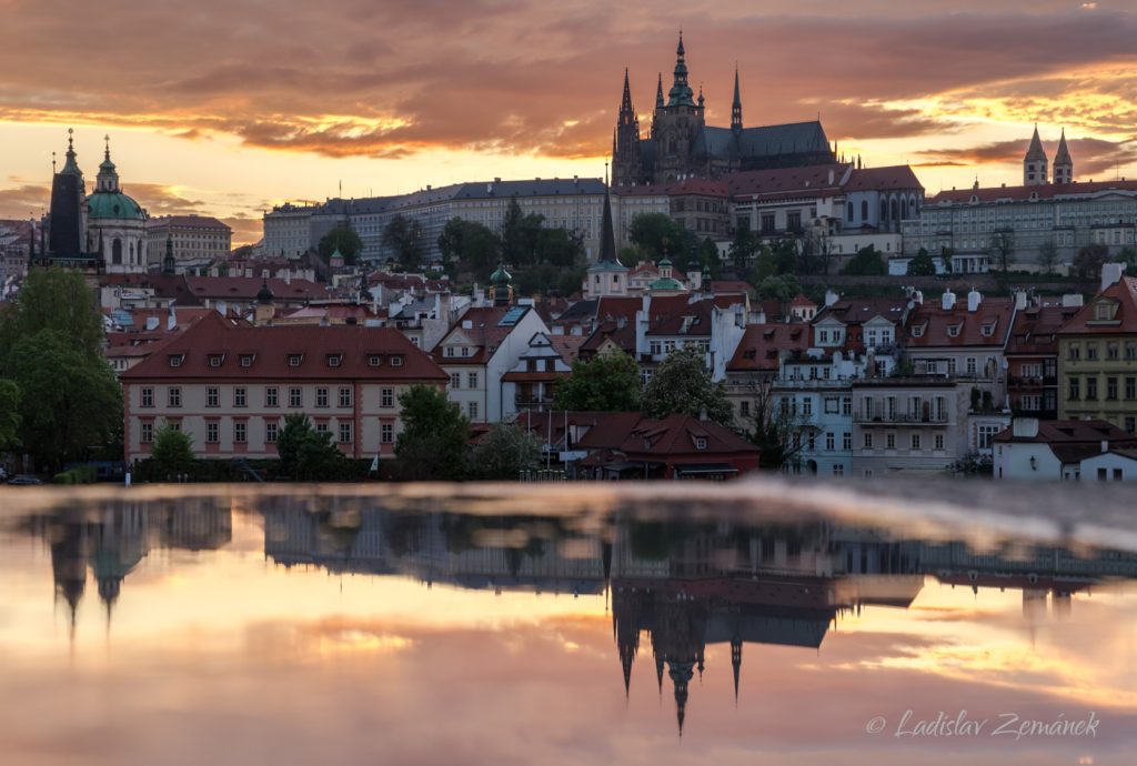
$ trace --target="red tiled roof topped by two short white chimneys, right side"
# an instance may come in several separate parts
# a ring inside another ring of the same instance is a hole
[[[918,349],[974,345],[1002,348],[1011,330],[1013,313],[1012,298],[984,298],[974,311],[968,310],[965,298],[957,300],[946,311],[939,301],[927,302],[916,306],[908,317],[905,344]],[[922,328],[919,336],[915,335],[918,328]]]

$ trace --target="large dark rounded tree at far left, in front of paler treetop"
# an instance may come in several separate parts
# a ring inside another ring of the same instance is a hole
[[[38,466],[58,469],[114,441],[123,396],[110,366],[74,339],[42,330],[16,342],[5,374],[19,390],[19,442]]]

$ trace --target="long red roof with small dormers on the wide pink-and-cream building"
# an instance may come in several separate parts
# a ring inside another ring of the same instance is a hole
[[[241,367],[240,357],[248,353],[255,355],[252,366]],[[219,367],[209,365],[215,355],[224,355]],[[293,355],[301,356],[299,366],[289,365]],[[339,366],[329,366],[329,355],[340,357]],[[171,367],[169,359],[175,356],[181,356],[182,363]],[[368,364],[372,356],[380,357],[377,367]],[[401,357],[400,366],[391,364],[395,357]],[[127,381],[152,378],[367,378],[437,383],[448,376],[397,330],[358,325],[254,327],[210,313],[179,333],[160,353],[152,353],[123,374]]]

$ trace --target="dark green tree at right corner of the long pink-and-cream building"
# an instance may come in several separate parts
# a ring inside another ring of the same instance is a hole
[[[470,421],[446,392],[413,385],[399,397],[402,432],[395,442],[400,477],[454,481],[465,475]]]

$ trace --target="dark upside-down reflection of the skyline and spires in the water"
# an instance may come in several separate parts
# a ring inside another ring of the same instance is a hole
[[[613,669],[619,665],[624,694],[631,696],[633,666],[649,648],[658,693],[670,691],[674,699],[680,735],[708,647],[729,647],[737,703],[746,644],[820,651],[844,615],[860,615],[864,607],[908,609],[929,576],[977,593],[1020,591],[1028,625],[1048,605],[1068,615],[1071,596],[1096,583],[1137,577],[1137,556],[1130,552],[1074,552],[1022,541],[974,550],[961,541],[824,519],[695,523],[645,521],[624,511],[475,516],[291,497],[260,498],[242,510],[263,523],[264,555],[284,569],[397,576],[498,594],[605,598]],[[226,547],[233,534],[230,503],[213,498],[66,507],[28,517],[17,528],[49,547],[73,640],[89,572],[109,632],[124,582],[143,559],[156,550],[188,550],[208,561],[205,552]]]

